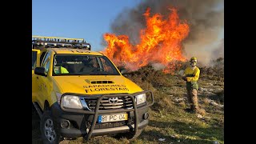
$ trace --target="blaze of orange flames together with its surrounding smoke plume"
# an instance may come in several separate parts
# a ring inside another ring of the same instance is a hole
[[[192,56],[203,66],[224,57],[223,26],[222,0],[142,1],[114,19],[102,52],[130,71],[151,65],[174,74]]]

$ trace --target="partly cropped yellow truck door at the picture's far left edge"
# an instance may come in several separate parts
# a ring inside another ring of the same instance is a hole
[[[34,74],[34,69],[40,65],[40,50],[32,49],[32,102],[35,102],[37,98],[38,84],[36,80],[36,75]]]

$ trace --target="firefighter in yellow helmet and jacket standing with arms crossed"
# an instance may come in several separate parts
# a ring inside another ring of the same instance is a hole
[[[190,111],[198,113],[198,78],[200,70],[196,66],[198,58],[190,58],[190,66],[184,71],[182,79],[186,81],[187,99],[190,103]]]

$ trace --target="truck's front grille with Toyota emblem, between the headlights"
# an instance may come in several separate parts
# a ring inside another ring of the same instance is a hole
[[[94,110],[97,98],[84,98],[90,110]],[[118,97],[117,102],[110,103],[109,98],[103,98],[100,102],[99,110],[113,110],[113,109],[129,109],[133,107],[132,100],[126,97]]]

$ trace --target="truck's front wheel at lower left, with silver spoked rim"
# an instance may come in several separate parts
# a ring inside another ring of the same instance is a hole
[[[54,120],[50,116],[50,110],[44,111],[40,122],[42,141],[44,144],[57,144],[60,141],[60,134],[54,127]]]

